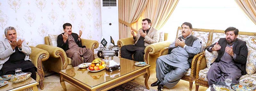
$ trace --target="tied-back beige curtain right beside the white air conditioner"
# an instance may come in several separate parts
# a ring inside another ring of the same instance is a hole
[[[131,36],[131,24],[136,22],[148,0],[118,0],[119,39]]]

